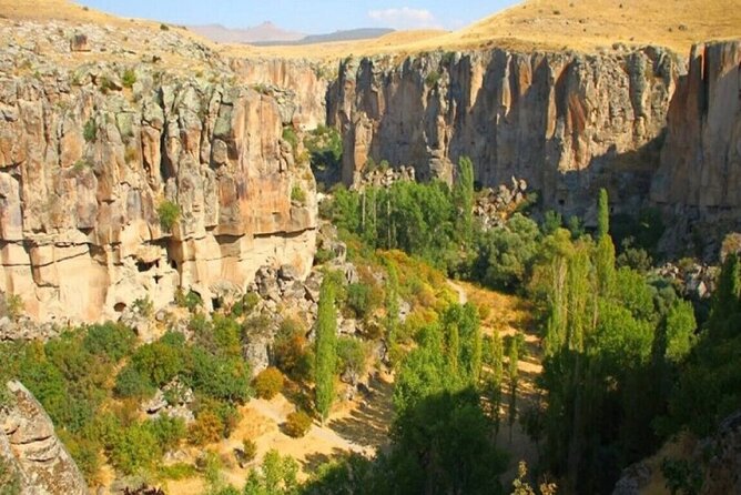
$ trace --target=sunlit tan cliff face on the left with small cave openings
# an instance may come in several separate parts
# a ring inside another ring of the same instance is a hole
[[[0,291],[33,317],[114,317],[177,286],[210,303],[261,265],[311,267],[314,179],[275,99],[135,68],[132,89],[100,64],[0,84]]]

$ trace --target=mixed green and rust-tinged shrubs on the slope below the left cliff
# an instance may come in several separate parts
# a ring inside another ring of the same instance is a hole
[[[124,325],[75,329],[45,344],[4,343],[6,375],[19,378],[49,413],[89,482],[98,478],[104,454],[124,474],[155,467],[181,442],[202,445],[229,436],[236,406],[250,397],[250,365],[241,354],[243,327],[214,315],[191,321],[194,339],[166,333],[136,346]],[[118,371],[118,372],[116,372]],[[114,377],[112,380],[112,377]],[[196,421],[161,416],[141,421],[142,401],[171,385],[165,400],[182,401],[192,388]]]

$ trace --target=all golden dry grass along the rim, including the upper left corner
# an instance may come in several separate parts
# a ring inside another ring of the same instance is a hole
[[[131,20],[83,9],[69,0],[0,0],[0,16],[9,19],[57,19],[119,28],[159,29],[160,23]],[[616,42],[657,44],[680,54],[692,43],[741,38],[737,0],[526,0],[459,31],[400,31],[373,40],[292,47],[216,44],[186,30],[227,57],[286,58],[335,61],[348,55],[407,55],[433,50],[501,47],[524,51],[575,50],[593,52]]]

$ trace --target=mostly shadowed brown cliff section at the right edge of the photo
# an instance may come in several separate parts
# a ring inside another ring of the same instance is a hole
[[[669,109],[651,199],[706,210],[741,208],[741,41],[692,48]]]

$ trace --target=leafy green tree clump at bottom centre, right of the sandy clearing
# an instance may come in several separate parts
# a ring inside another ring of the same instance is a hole
[[[499,493],[505,455],[481,402],[483,340],[475,306],[454,304],[418,329],[399,362],[392,447],[324,466],[305,492]]]

